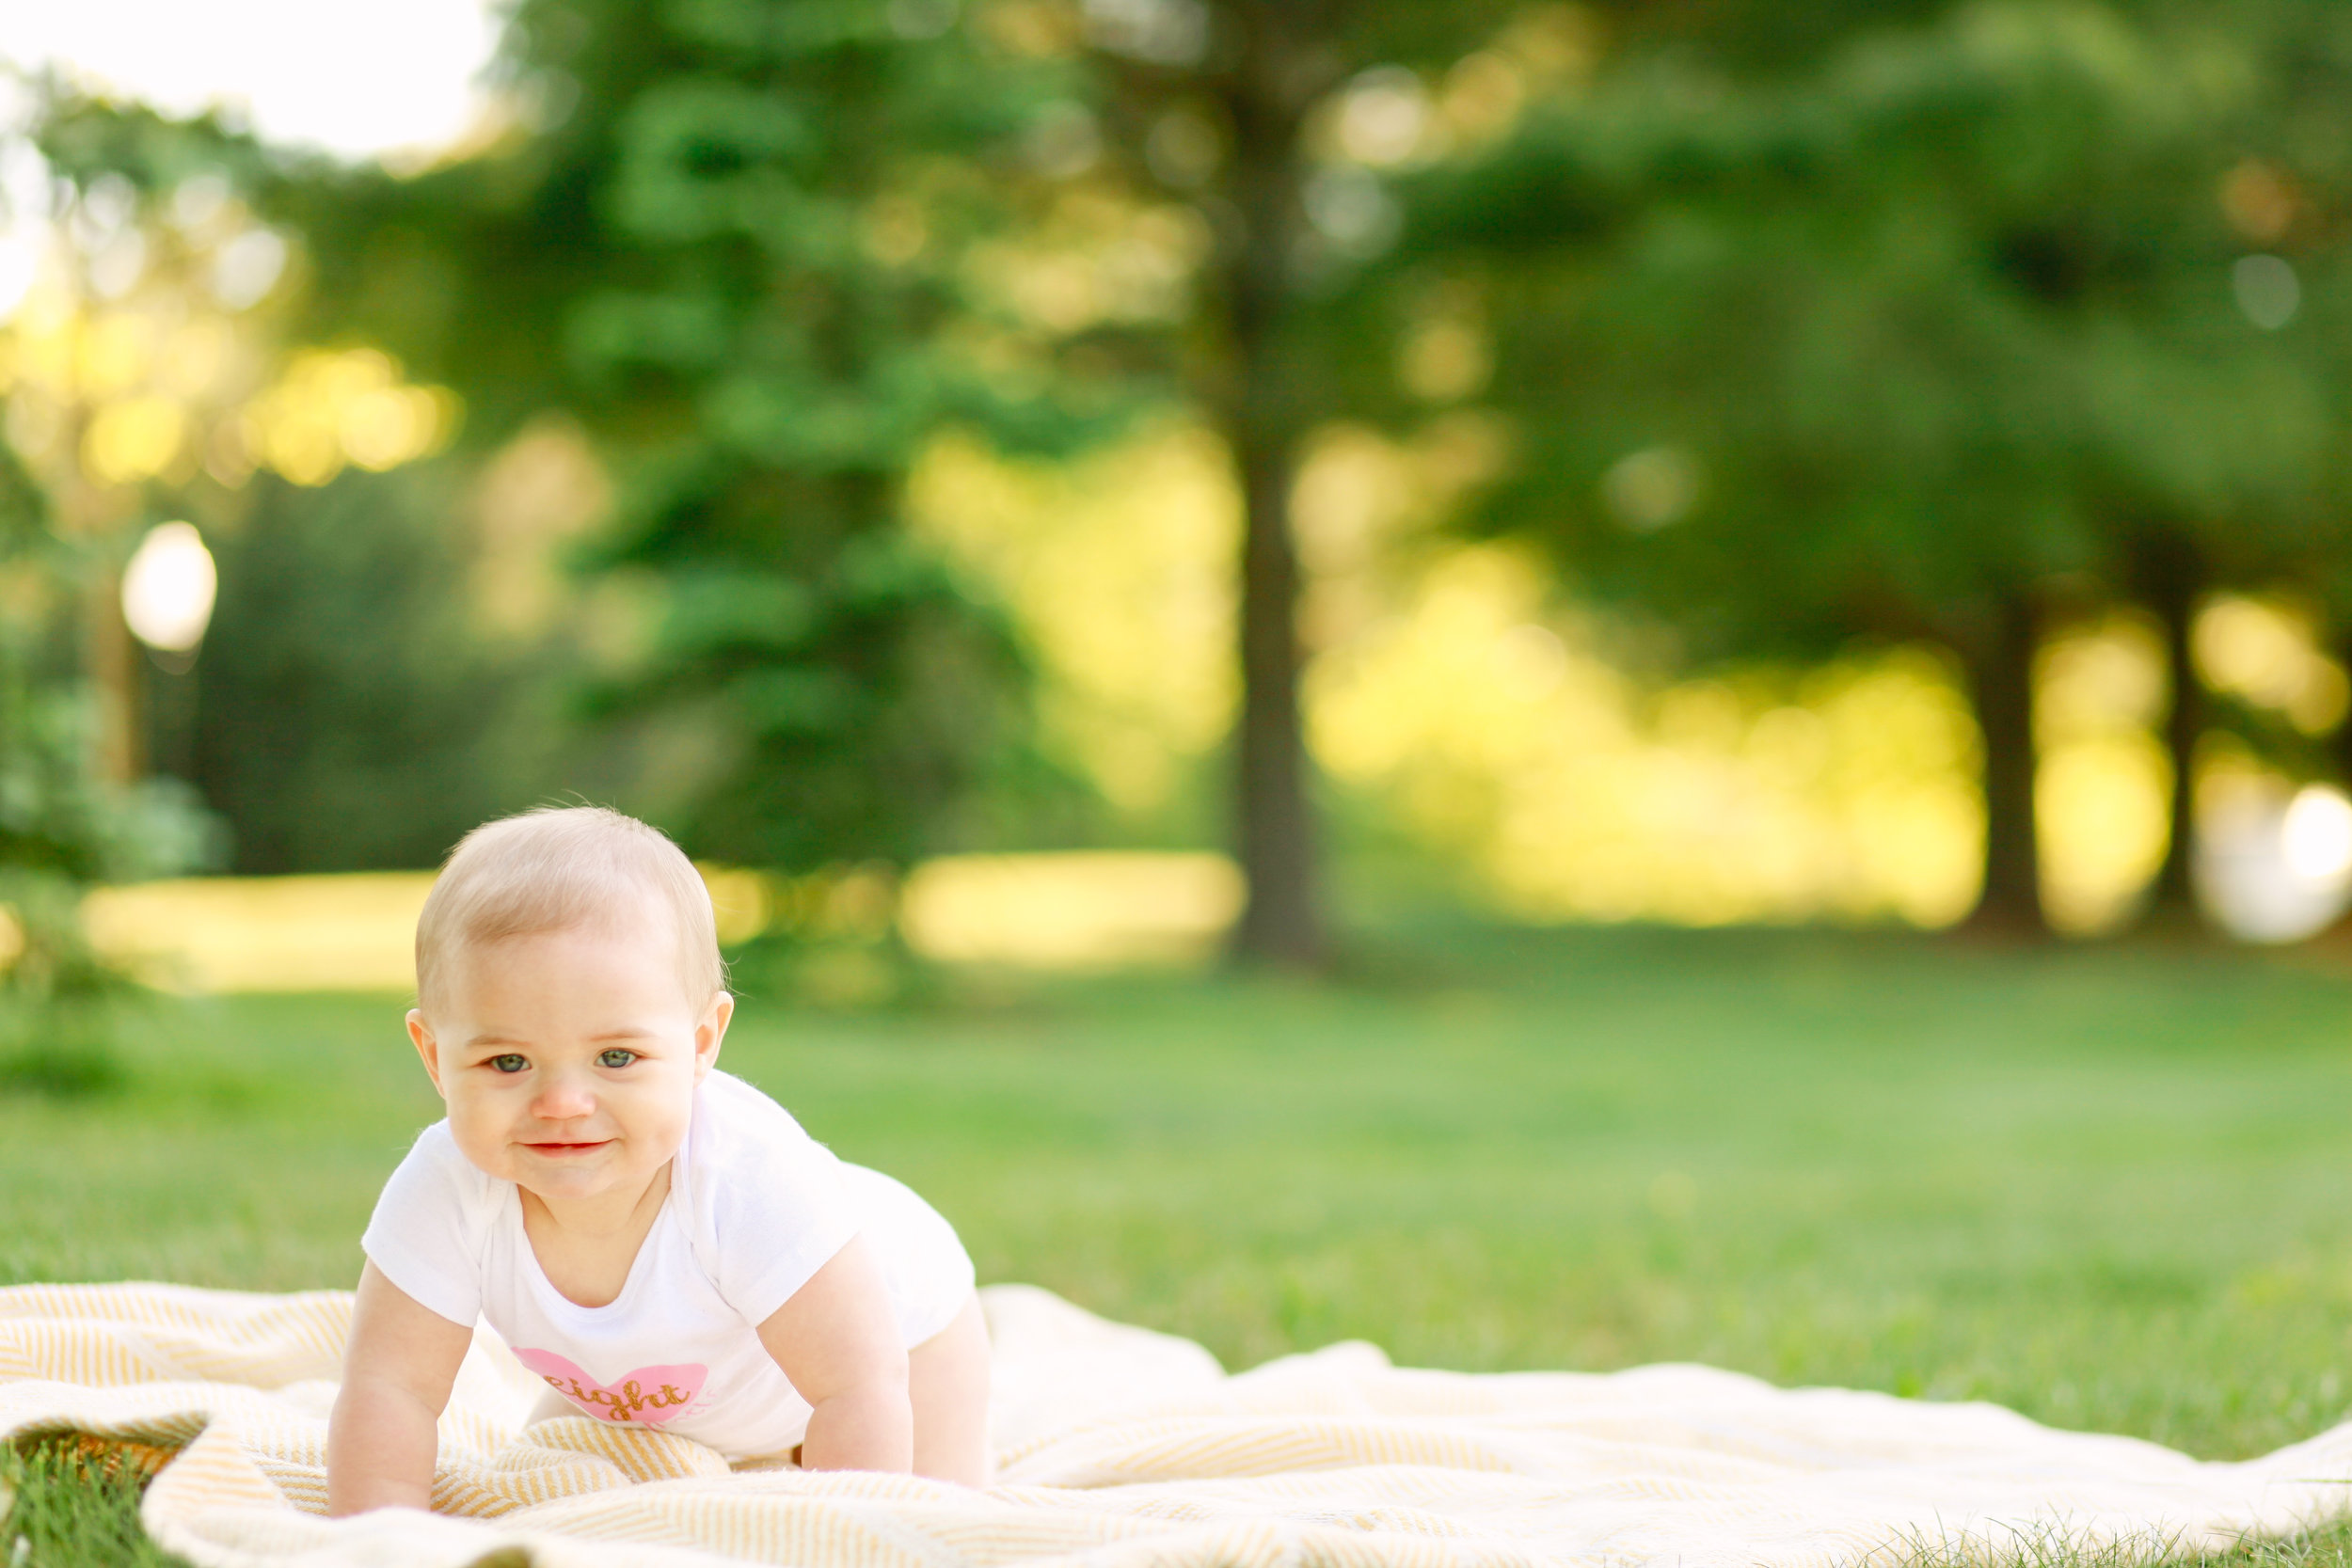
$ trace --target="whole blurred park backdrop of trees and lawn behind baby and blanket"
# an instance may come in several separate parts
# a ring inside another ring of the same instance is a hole
[[[0,1274],[348,1284],[595,799],[1228,1363],[2345,1413],[2340,7],[313,9],[0,40]]]

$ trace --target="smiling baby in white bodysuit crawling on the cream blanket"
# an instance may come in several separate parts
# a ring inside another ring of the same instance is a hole
[[[449,1117],[360,1241],[329,1512],[430,1507],[475,1319],[546,1380],[532,1420],[985,1481],[955,1229],[717,1072],[731,1016],[710,896],[666,837],[595,806],[466,835],[416,922],[409,1013]]]

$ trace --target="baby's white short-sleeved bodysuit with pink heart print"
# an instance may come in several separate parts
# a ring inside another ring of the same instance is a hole
[[[466,1159],[447,1121],[393,1171],[360,1246],[430,1312],[468,1328],[489,1319],[579,1413],[677,1432],[739,1460],[783,1453],[809,1425],[809,1403],[757,1326],[861,1234],[908,1347],[971,1298],[971,1258],[929,1204],[837,1159],[743,1079],[710,1072],[670,1164],[670,1197],[604,1307],[548,1284],[520,1190]]]

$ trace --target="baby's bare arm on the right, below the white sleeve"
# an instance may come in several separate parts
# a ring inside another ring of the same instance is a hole
[[[793,1300],[760,1324],[760,1342],[809,1401],[809,1469],[915,1467],[915,1410],[906,1396],[906,1345],[882,1269],[851,1241]]]

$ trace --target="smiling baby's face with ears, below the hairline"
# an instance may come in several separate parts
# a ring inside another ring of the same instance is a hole
[[[659,922],[454,957],[433,1016],[409,1013],[409,1037],[456,1147],[548,1204],[635,1204],[687,1135],[734,1001],[687,999]]]

